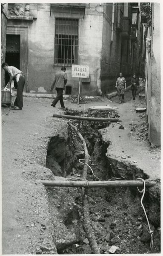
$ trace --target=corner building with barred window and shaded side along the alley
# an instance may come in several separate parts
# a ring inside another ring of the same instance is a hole
[[[120,71],[129,79],[133,71],[139,72],[139,33],[133,41],[131,31],[133,10],[138,13],[139,9],[134,4],[8,4],[6,62],[26,75],[27,92],[48,93],[63,64],[67,94],[78,92],[79,79],[71,77],[72,64],[89,66],[81,94],[111,92]],[[137,19],[137,31],[138,24]]]

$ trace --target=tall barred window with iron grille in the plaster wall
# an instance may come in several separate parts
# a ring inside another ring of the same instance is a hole
[[[56,18],[54,64],[77,64],[78,41],[78,20]]]

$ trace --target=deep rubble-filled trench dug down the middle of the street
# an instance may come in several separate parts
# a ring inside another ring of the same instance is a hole
[[[101,113],[101,111],[82,113],[69,110],[67,114],[108,116],[108,113]],[[112,113],[113,117],[116,115],[117,113]],[[108,123],[80,121],[76,123],[76,126],[86,140],[90,166],[95,176],[103,180],[116,180],[117,178],[135,180],[137,177],[146,180],[149,178],[143,170],[138,169],[135,165],[106,157],[106,151],[111,142],[102,141],[98,130],[109,126]],[[82,177],[83,165],[78,161],[80,158],[84,158],[83,145],[72,128],[68,126],[66,139],[59,134],[50,138],[46,167],[51,169],[54,175],[76,179]],[[88,169],[87,179],[97,180],[90,169]],[[58,212],[66,227],[65,236],[66,234],[72,236],[67,248],[58,245],[57,253],[91,254],[92,250],[83,230],[81,189],[50,187],[47,190],[51,212],[54,211],[53,204],[57,199],[60,201]],[[152,251],[149,247],[150,235],[147,221],[140,205],[141,194],[137,188],[89,188],[88,195],[92,227],[101,254],[108,253],[112,245],[119,248],[116,253],[160,252],[160,194],[156,192],[156,189],[146,188],[143,199],[151,229],[154,230]],[[54,239],[55,243],[57,243],[56,239]]]

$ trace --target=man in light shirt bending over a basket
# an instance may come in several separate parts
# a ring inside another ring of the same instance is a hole
[[[11,82],[16,81],[17,86],[17,97],[14,101],[14,110],[22,110],[23,108],[23,88],[25,84],[25,78],[23,72],[18,70],[16,67],[9,66],[6,62],[2,64],[3,70],[7,72],[10,76],[8,87],[11,87]]]

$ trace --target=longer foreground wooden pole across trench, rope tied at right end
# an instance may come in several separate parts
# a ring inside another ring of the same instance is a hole
[[[85,165],[86,166],[86,165]],[[74,181],[74,180],[41,180],[45,186],[63,186],[63,187],[140,187],[143,182],[140,180],[111,180],[111,181]],[[155,181],[146,180],[146,187],[155,186]]]

